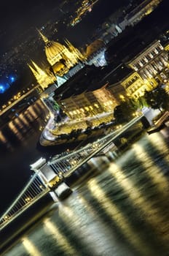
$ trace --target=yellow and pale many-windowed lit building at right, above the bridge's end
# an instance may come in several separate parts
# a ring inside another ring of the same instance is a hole
[[[133,72],[126,75],[119,83],[109,86],[112,92],[114,86],[123,86],[127,97],[138,99],[144,95],[145,91],[151,91],[162,83],[165,78],[165,72],[168,72],[168,51],[162,47],[160,41],[153,42],[148,48],[138,53],[127,66],[133,69]],[[124,94],[122,94],[122,97]]]

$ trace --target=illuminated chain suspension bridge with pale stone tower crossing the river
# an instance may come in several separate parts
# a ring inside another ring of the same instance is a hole
[[[91,158],[95,157],[101,152],[105,153],[114,146],[113,140],[117,138],[122,132],[125,132],[133,124],[139,121],[142,116],[133,118],[128,124],[117,129],[109,135],[104,135],[103,138],[95,140],[93,143],[88,143],[82,148],[78,148],[71,152],[65,152],[63,154],[55,155],[50,161],[41,158],[31,165],[31,170],[34,171],[34,175],[20,192],[19,195],[12,202],[11,206],[0,217],[0,230],[9,225],[15,218],[33,205],[37,200],[47,193],[55,197],[58,196],[58,190],[64,190],[68,187],[64,183],[65,178],[71,176],[79,167]],[[65,185],[65,187],[64,187]],[[63,186],[63,187],[62,187]],[[69,188],[70,189],[70,188]],[[59,197],[59,196],[58,196]]]

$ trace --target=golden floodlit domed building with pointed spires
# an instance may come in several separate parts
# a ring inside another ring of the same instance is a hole
[[[71,71],[71,76],[78,72],[80,68],[84,67],[83,64],[79,65],[79,62],[83,62],[85,57],[68,40],[65,40],[65,46],[59,42],[50,41],[41,31],[39,31],[39,34],[45,43],[44,51],[50,67],[44,71],[34,61],[31,61],[31,65],[28,64],[28,67],[44,91],[50,84],[55,83],[58,77],[63,77],[63,75],[68,73],[72,67],[74,69]],[[51,68],[52,72],[50,71]]]

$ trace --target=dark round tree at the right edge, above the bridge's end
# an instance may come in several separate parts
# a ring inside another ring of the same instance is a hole
[[[168,110],[169,95],[161,86],[152,91],[146,91],[144,94],[147,105],[153,109]]]

